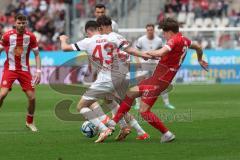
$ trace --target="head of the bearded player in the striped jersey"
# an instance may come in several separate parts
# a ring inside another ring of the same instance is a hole
[[[15,16],[15,27],[18,33],[23,34],[27,25],[27,17],[21,13]]]

